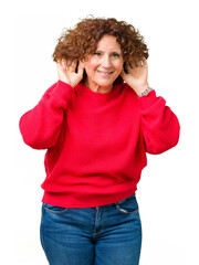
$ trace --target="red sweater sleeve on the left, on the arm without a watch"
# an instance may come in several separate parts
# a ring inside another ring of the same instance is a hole
[[[73,87],[59,81],[42,96],[39,104],[20,119],[20,131],[27,145],[34,149],[48,149],[56,144],[64,110]]]

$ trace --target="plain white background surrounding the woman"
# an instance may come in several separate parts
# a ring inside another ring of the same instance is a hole
[[[0,263],[48,264],[39,239],[44,151],[23,144],[18,124],[57,80],[51,55],[63,28],[93,14],[125,20],[139,29],[149,46],[149,84],[181,125],[178,146],[148,156],[138,184],[144,233],[140,265],[199,265],[197,1],[4,2],[0,7]]]

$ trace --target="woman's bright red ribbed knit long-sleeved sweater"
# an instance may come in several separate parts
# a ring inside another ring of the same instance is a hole
[[[43,202],[88,208],[132,195],[146,152],[178,142],[179,123],[155,91],[137,97],[126,84],[95,93],[59,81],[20,119],[27,145],[48,149]]]

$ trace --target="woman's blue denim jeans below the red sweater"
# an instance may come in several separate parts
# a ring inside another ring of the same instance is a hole
[[[136,197],[83,209],[43,203],[40,236],[50,265],[138,265],[142,224]]]

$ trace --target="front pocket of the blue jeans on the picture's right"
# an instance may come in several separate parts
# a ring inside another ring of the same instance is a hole
[[[133,195],[122,202],[115,203],[116,209],[123,214],[136,214],[139,211],[136,197]]]

